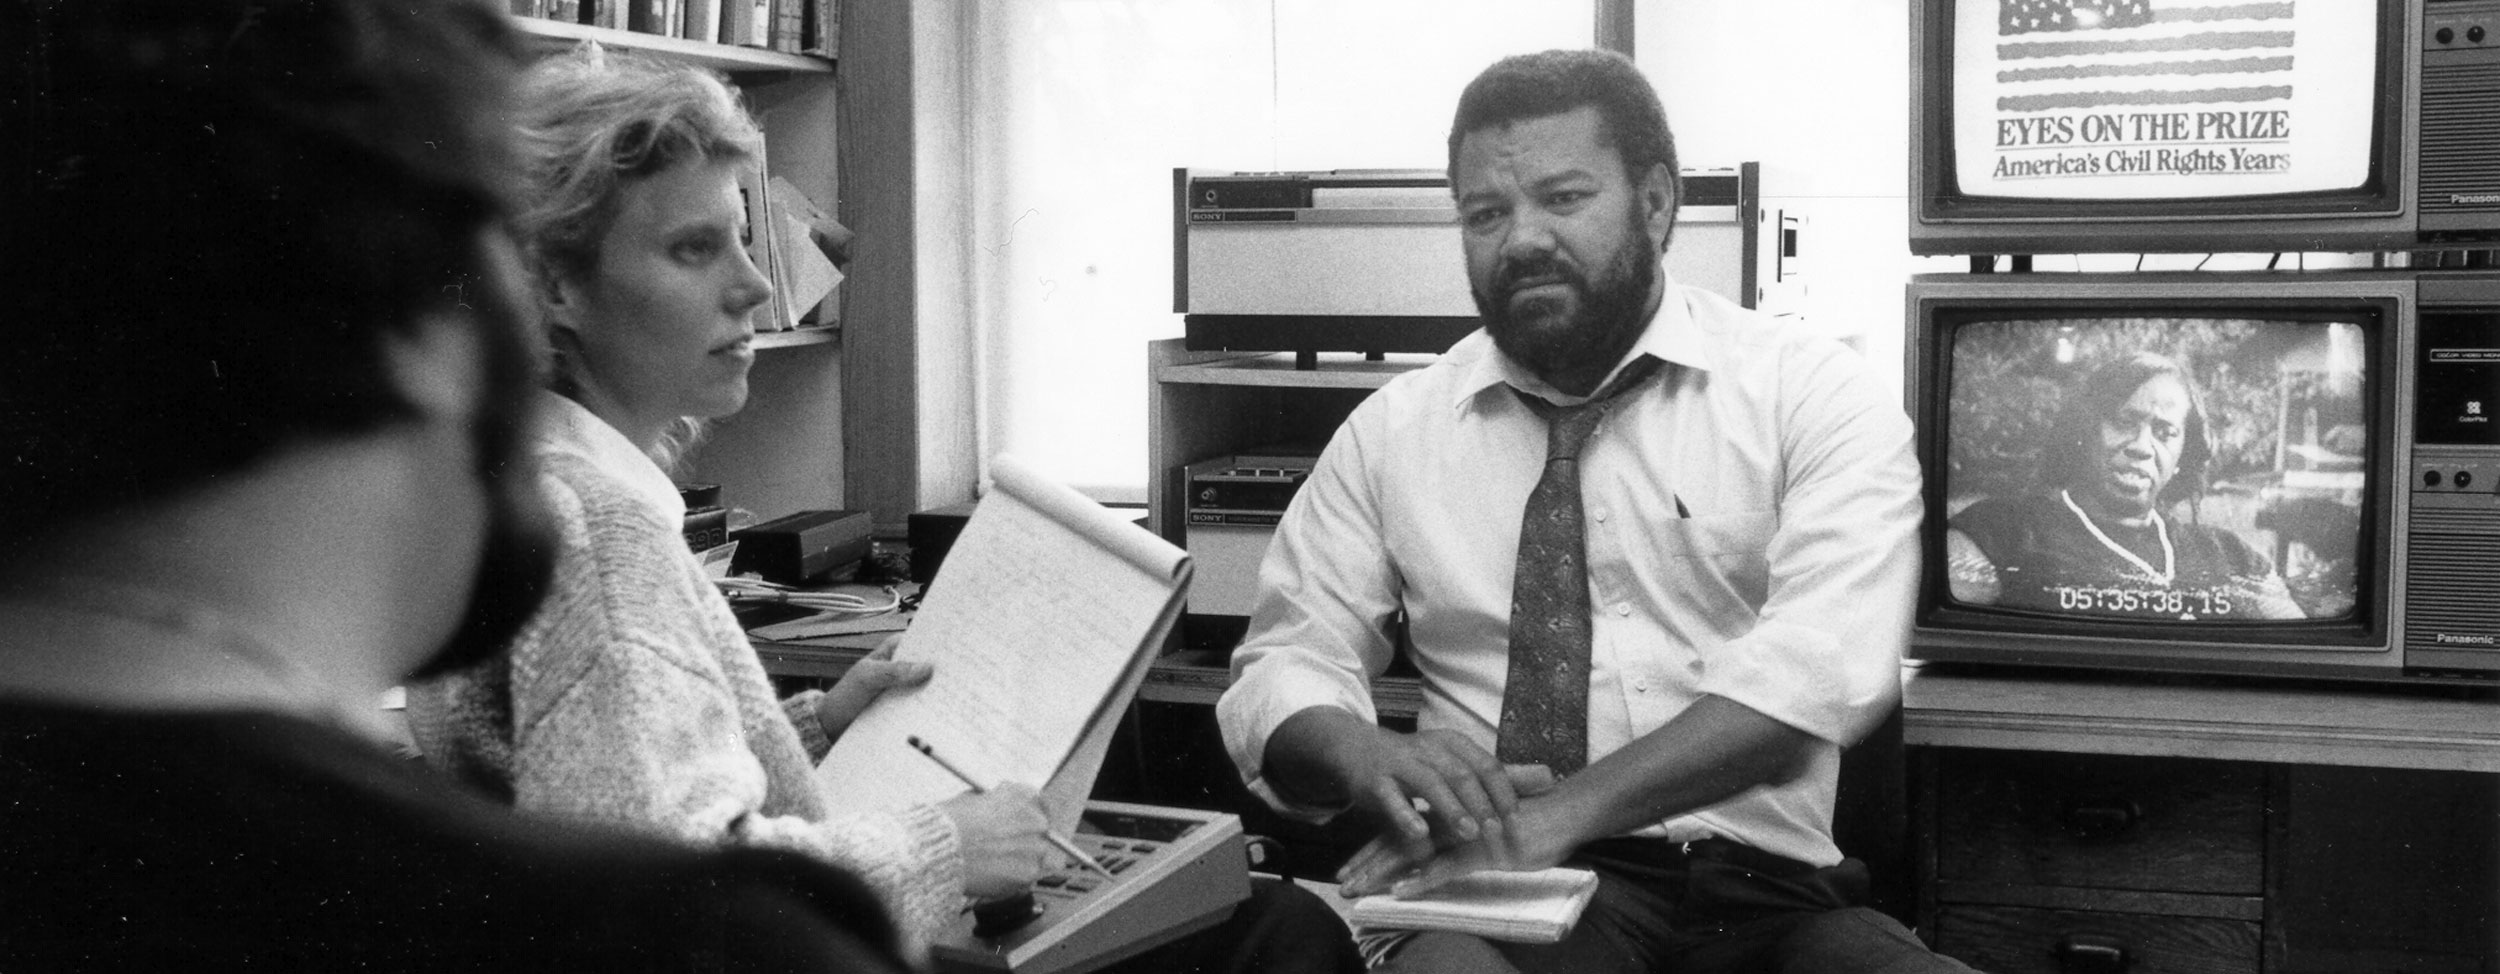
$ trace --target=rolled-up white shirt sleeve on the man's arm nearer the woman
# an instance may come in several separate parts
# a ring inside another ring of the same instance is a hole
[[[1398,577],[1382,554],[1362,440],[1358,412],[1285,509],[1260,562],[1250,634],[1232,652],[1232,687],[1215,704],[1225,749],[1250,792],[1310,822],[1342,807],[1280,794],[1265,777],[1268,739],[1310,707],[1340,707],[1378,722],[1370,679],[1388,669],[1395,652],[1388,622],[1398,609]]]

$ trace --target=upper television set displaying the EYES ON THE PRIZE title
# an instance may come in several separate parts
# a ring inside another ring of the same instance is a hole
[[[1910,252],[2500,240],[2500,0],[1912,0]]]

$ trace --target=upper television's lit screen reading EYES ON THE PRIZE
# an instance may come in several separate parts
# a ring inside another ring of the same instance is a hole
[[[2190,200],[2362,187],[2378,132],[2368,0],[1962,0],[1960,192]]]

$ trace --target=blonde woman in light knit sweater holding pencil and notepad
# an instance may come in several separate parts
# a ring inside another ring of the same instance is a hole
[[[508,657],[410,689],[418,744],[522,812],[845,867],[918,954],[968,897],[1040,877],[1035,794],[828,812],[812,762],[830,737],[928,674],[878,659],[830,694],[775,699],[665,472],[698,422],[748,400],[750,317],[772,290],[742,247],[738,172],[762,135],[715,75],[598,47],[535,65],[520,105],[518,237],[555,350],[535,460],[558,572]]]

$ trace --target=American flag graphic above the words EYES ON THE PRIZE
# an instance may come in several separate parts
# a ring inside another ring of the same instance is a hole
[[[2290,97],[2292,0],[1998,0],[2000,112]]]

